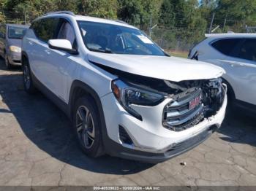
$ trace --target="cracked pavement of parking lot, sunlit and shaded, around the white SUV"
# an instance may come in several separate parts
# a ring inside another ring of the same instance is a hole
[[[239,111],[236,111],[239,112]],[[86,157],[67,117],[0,63],[0,185],[256,185],[256,122],[230,114],[199,147],[165,163]]]

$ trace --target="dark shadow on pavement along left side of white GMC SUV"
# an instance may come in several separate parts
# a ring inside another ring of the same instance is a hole
[[[0,63],[0,71],[3,69],[4,63]],[[0,95],[9,108],[2,109],[0,105],[0,113],[14,114],[28,139],[64,163],[102,174],[135,174],[152,166],[108,155],[99,158],[84,155],[66,115],[41,93],[28,95],[23,90],[21,72],[0,75]]]

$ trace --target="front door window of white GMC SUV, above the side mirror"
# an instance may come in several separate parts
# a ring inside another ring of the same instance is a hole
[[[75,32],[67,20],[61,19],[57,39],[67,39],[73,47],[75,46]]]

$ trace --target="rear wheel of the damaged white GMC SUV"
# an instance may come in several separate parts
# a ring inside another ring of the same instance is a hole
[[[24,90],[27,93],[33,94],[36,92],[36,87],[34,86],[34,82],[31,78],[31,71],[29,67],[29,62],[24,59],[22,64],[22,71],[23,71],[23,86]]]

